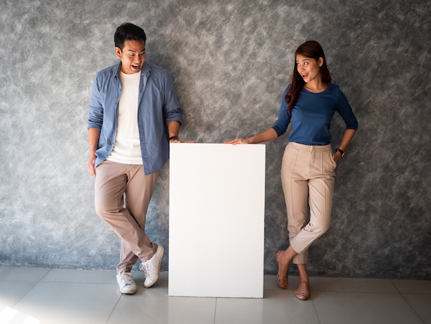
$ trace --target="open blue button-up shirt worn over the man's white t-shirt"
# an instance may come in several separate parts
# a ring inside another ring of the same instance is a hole
[[[114,148],[121,95],[120,63],[96,74],[88,108],[88,128],[101,131],[96,165]],[[167,124],[181,123],[181,108],[169,72],[144,62],[138,94],[138,128],[145,174],[156,172],[169,159]]]

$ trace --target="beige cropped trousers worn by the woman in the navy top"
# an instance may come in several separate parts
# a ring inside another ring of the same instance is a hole
[[[328,230],[336,167],[331,156],[330,145],[289,142],[284,150],[282,186],[289,242],[298,253],[295,264],[306,263],[308,247]]]

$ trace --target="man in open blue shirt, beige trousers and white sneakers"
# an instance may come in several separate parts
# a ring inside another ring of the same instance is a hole
[[[87,121],[96,212],[122,239],[116,279],[123,294],[136,292],[130,271],[138,259],[144,286],[158,280],[164,250],[149,241],[145,217],[181,124],[172,79],[145,61],[146,40],[132,23],[117,28],[120,62],[96,74]]]

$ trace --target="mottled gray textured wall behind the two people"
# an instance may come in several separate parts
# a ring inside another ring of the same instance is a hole
[[[310,249],[310,273],[431,279],[430,1],[404,3],[1,0],[0,264],[116,265],[120,241],[94,212],[86,117],[94,73],[116,62],[114,30],[131,21],[147,32],[147,61],[174,78],[182,139],[204,143],[273,125],[295,48],[322,43],[359,131],[337,168],[331,227]],[[342,132],[336,118],[335,147]],[[287,244],[286,141],[266,144],[266,274]],[[168,182],[169,164],[147,221],[165,246]]]

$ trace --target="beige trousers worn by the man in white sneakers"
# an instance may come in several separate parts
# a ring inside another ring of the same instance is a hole
[[[96,212],[122,239],[117,272],[129,272],[138,261],[151,259],[157,245],[145,234],[145,218],[158,172],[145,175],[143,165],[103,161],[94,183]]]

